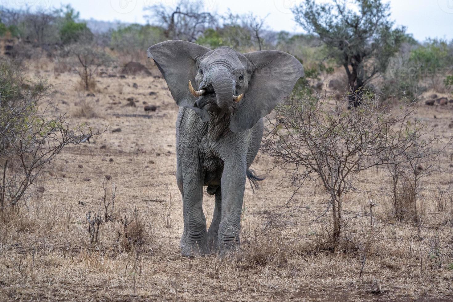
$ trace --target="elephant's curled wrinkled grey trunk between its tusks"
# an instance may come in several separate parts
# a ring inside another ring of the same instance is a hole
[[[234,101],[236,83],[226,67],[217,67],[212,71],[212,88],[217,96],[217,106],[228,110]]]

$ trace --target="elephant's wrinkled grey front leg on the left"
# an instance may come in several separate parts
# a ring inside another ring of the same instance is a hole
[[[203,181],[198,161],[181,168],[184,231],[181,238],[183,256],[208,253],[206,217],[203,213]]]

